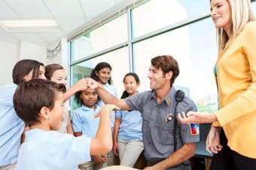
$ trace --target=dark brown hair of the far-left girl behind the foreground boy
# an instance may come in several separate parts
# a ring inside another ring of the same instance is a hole
[[[28,75],[31,71],[32,73],[32,79],[39,77],[39,68],[40,66],[44,66],[39,61],[35,60],[20,60],[15,64],[13,69],[13,81],[16,85],[19,85],[21,82],[24,82],[24,77]]]

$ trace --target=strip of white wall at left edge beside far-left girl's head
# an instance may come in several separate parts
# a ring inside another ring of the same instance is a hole
[[[12,81],[12,70],[17,58],[17,44],[0,41],[0,86]]]

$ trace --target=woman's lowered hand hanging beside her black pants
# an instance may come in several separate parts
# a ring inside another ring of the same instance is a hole
[[[223,148],[220,144],[220,130],[221,127],[211,127],[206,139],[206,151],[213,154],[218,154]]]

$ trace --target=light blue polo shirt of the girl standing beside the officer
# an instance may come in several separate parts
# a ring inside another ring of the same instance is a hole
[[[118,139],[142,141],[142,114],[139,111],[118,110],[115,118],[121,118]]]

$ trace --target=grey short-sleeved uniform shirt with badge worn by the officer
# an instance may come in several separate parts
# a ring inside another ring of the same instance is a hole
[[[155,91],[145,91],[136,96],[127,97],[126,104],[131,110],[142,113],[142,139],[145,158],[148,161],[166,159],[172,154],[174,147],[173,121],[165,123],[166,116],[175,110],[175,88],[172,86],[162,103],[157,104]],[[177,112],[196,111],[194,102],[187,97],[178,103]],[[174,115],[174,114],[173,114]],[[185,143],[199,142],[199,135],[192,136],[187,124],[177,124],[177,150]]]

